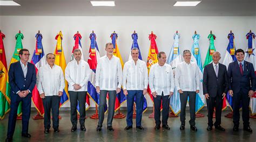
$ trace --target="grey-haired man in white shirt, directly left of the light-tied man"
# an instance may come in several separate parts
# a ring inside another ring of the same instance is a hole
[[[180,94],[180,130],[185,129],[186,119],[186,104],[187,97],[189,97],[190,105],[190,129],[197,131],[196,127],[196,94],[199,93],[200,80],[199,80],[199,69],[197,63],[191,62],[191,52],[184,50],[183,52],[184,61],[179,63],[175,73],[175,85]]]

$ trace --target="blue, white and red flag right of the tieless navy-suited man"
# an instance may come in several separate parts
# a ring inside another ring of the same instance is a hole
[[[43,45],[42,45],[42,38],[43,38],[43,36],[41,33],[36,34],[36,49],[33,52],[33,56],[31,59],[31,63],[33,63],[33,65],[35,65],[36,74],[38,72],[38,69],[46,64],[44,49],[43,49]],[[43,116],[44,115],[43,100],[40,97],[39,91],[37,90],[36,86],[32,91],[32,102],[35,105],[35,108],[37,109],[39,114],[41,116]]]

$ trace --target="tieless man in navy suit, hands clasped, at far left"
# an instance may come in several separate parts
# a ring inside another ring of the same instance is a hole
[[[17,110],[20,102],[22,102],[22,136],[26,138],[31,137],[28,133],[28,128],[31,93],[36,84],[36,69],[35,65],[28,62],[29,55],[28,49],[21,49],[19,51],[19,58],[21,60],[12,63],[8,72],[9,84],[11,86],[11,111],[6,141],[11,141],[14,135]]]

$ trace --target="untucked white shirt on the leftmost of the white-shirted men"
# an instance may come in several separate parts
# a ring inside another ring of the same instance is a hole
[[[39,94],[44,93],[45,96],[58,95],[58,91],[65,88],[65,79],[62,68],[53,65],[52,68],[46,64],[39,68],[37,73],[37,89]]]

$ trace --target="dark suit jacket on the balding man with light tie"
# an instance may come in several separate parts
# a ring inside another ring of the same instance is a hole
[[[212,63],[204,68],[203,75],[203,93],[209,94],[210,97],[222,95],[228,91],[228,75],[225,65],[219,63],[218,77],[215,74]]]

